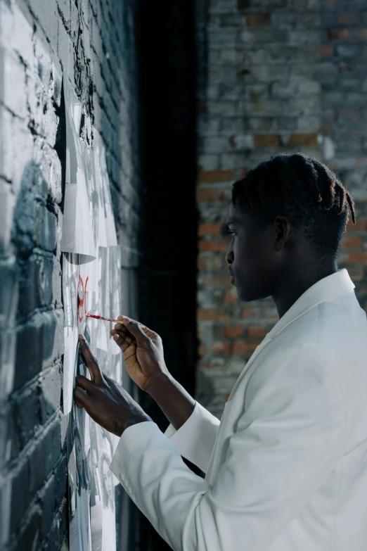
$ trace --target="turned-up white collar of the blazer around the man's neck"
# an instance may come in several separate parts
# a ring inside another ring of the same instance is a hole
[[[314,308],[314,306],[322,302],[333,300],[333,298],[337,296],[351,293],[354,287],[355,285],[345,268],[337,270],[334,274],[316,281],[307,291],[304,291],[300,298],[297,298],[290,309],[287,310],[283,317],[274,325],[273,329],[266,334],[264,340],[267,341],[276,336],[290,323],[294,322],[295,319],[302,316],[308,310],[311,310],[311,308]]]

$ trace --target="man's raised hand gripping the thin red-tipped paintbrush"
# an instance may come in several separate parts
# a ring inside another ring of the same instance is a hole
[[[119,316],[117,319],[121,323],[116,324],[110,334],[122,350],[131,379],[143,391],[149,392],[150,386],[160,376],[169,376],[163,357],[162,338],[131,317]]]

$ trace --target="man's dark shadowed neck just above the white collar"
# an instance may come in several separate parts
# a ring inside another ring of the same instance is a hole
[[[336,262],[330,262],[330,265],[318,265],[312,269],[312,266],[299,268],[298,270],[290,270],[288,275],[282,278],[281,285],[276,293],[273,293],[273,300],[276,303],[279,319],[283,317],[290,307],[295,303],[300,296],[303,295],[312,285],[337,272]]]

